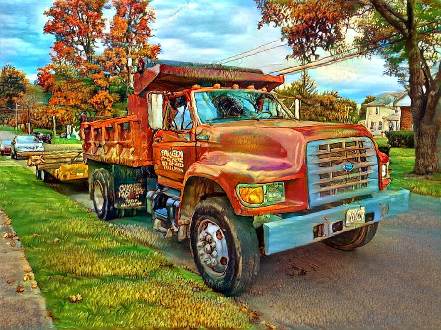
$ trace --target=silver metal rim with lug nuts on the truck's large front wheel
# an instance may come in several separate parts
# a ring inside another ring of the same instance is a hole
[[[212,220],[204,219],[199,224],[197,234],[196,248],[202,266],[212,276],[223,276],[229,261],[223,231]]]

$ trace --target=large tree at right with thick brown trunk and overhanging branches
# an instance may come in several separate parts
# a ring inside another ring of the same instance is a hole
[[[322,49],[339,54],[379,54],[385,72],[409,91],[414,124],[416,174],[440,171],[441,4],[439,0],[255,0],[259,23],[281,27],[291,57],[310,62]],[[348,29],[358,35],[345,42]],[[438,63],[438,64],[437,64]],[[438,65],[438,67],[436,67]]]

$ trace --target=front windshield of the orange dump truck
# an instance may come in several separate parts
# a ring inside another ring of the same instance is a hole
[[[195,92],[194,98],[202,123],[294,118],[294,115],[268,92],[224,89]]]

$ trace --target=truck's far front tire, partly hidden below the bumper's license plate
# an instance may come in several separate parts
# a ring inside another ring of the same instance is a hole
[[[327,238],[322,242],[339,250],[353,250],[368,244],[378,229],[378,222],[359,227],[352,231],[343,232],[335,237]]]

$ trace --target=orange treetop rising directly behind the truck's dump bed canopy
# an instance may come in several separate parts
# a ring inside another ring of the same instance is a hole
[[[100,64],[120,77],[128,94],[133,88],[130,62],[140,56],[155,58],[160,51],[159,45],[148,44],[149,25],[155,20],[155,12],[148,6],[150,0],[113,0],[112,3],[116,13],[105,36],[107,49]]]

